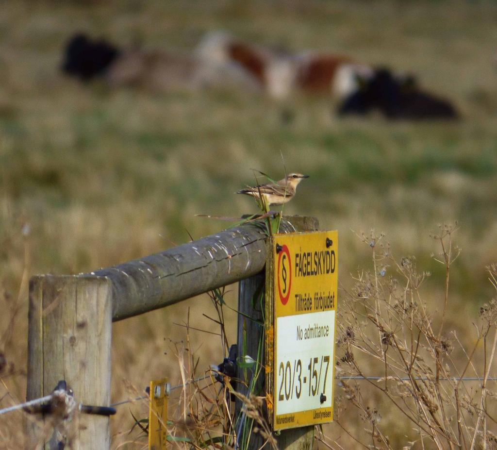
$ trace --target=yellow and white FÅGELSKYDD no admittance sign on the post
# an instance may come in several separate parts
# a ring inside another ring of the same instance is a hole
[[[273,429],[333,419],[338,233],[273,236]]]

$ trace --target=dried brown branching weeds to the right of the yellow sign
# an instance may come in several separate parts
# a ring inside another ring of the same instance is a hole
[[[445,269],[438,311],[425,299],[429,273],[414,259],[395,258],[383,236],[362,236],[373,267],[344,292],[336,364],[338,377],[377,379],[340,381],[336,425],[363,448],[495,446],[495,380],[489,377],[495,377],[497,297],[480,308],[479,318],[447,323],[454,306],[450,268],[460,255],[455,231],[443,226],[433,236],[440,249],[433,258]],[[395,275],[387,276],[387,267]],[[496,266],[488,273],[497,289]],[[392,433],[394,427],[404,436]]]

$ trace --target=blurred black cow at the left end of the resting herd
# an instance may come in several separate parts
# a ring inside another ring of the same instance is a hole
[[[84,34],[76,34],[66,45],[62,70],[83,81],[105,73],[120,51],[103,40],[92,41]]]

